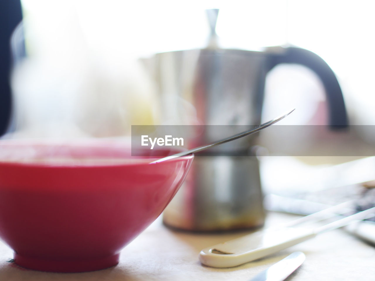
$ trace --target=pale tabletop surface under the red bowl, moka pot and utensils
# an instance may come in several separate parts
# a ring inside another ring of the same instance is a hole
[[[266,225],[287,222],[298,216],[270,212]],[[210,268],[198,260],[202,248],[250,233],[188,233],[168,229],[159,217],[120,255],[120,263],[100,271],[50,273],[21,268],[11,262],[12,250],[0,242],[1,281],[124,281],[124,280],[231,280],[247,281],[294,251],[306,260],[288,280],[374,280],[375,247],[342,229],[332,230],[277,254],[235,268]]]

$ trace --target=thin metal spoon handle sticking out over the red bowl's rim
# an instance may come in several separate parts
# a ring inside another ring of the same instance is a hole
[[[294,110],[295,109],[292,109],[290,112],[282,114],[281,116],[278,116],[275,119],[272,119],[272,120],[270,120],[266,123],[263,123],[263,124],[257,126],[256,128],[251,129],[249,131],[241,132],[239,134],[233,135],[233,136],[228,137],[228,138],[224,138],[222,140],[216,141],[216,142],[211,143],[211,144],[206,144],[204,146],[198,146],[198,147],[195,147],[193,149],[189,149],[189,150],[186,150],[186,151],[183,151],[183,152],[179,152],[179,153],[176,153],[176,154],[173,154],[173,155],[169,155],[169,156],[166,156],[164,158],[157,159],[157,160],[155,160],[151,163],[159,163],[159,162],[162,162],[162,161],[165,161],[165,160],[177,158],[177,157],[180,157],[180,156],[189,155],[191,153],[196,153],[196,152],[199,152],[199,151],[202,151],[202,150],[205,150],[205,149],[209,149],[209,148],[214,147],[214,146],[218,146],[219,144],[227,143],[228,141],[237,140],[237,138],[242,138],[242,137],[245,137],[247,135],[253,134],[255,132],[263,130],[264,128],[266,128],[266,127],[268,127],[272,124],[275,124],[276,122],[279,122],[281,119],[284,119],[289,114],[291,114]]]

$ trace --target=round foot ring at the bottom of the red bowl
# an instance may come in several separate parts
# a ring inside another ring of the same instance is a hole
[[[49,272],[86,272],[110,268],[118,264],[120,254],[90,260],[45,260],[14,254],[14,263],[27,269]]]

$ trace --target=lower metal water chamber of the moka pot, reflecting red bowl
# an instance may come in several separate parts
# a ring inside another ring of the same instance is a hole
[[[193,231],[258,227],[264,218],[255,156],[196,155],[163,213],[165,225]]]

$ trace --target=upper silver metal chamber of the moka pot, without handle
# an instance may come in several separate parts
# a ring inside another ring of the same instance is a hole
[[[145,59],[159,91],[162,123],[260,124],[266,59],[262,52],[228,49],[166,52]],[[210,131],[202,138],[205,143],[218,139]]]

